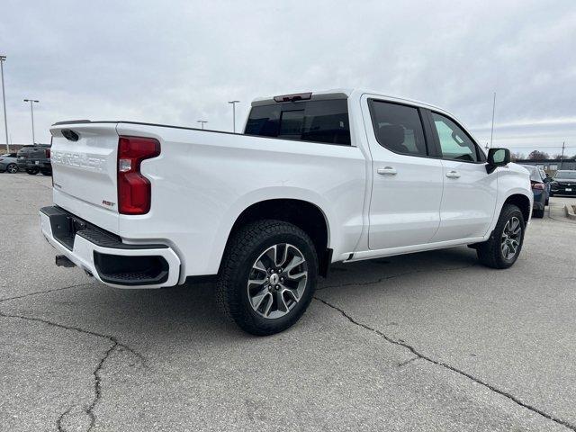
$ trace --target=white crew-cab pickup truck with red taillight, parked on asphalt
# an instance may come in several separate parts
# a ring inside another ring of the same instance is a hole
[[[335,262],[469,245],[520,253],[533,194],[437,107],[361,90],[252,103],[244,133],[132,121],[50,129],[57,264],[103,284],[216,281],[247,332],[287,329]]]

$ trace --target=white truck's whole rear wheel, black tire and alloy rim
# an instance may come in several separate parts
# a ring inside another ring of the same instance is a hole
[[[259,220],[230,239],[217,296],[241,329],[272,335],[300,320],[312,300],[317,275],[316,249],[302,229],[280,220]]]

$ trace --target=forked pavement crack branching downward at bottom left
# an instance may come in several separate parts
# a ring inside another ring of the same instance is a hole
[[[52,290],[52,291],[54,291],[54,290]],[[10,299],[8,299],[8,300],[10,300]],[[94,398],[93,398],[92,402],[90,403],[90,405],[88,405],[88,407],[86,407],[84,410],[85,413],[90,418],[90,426],[88,427],[87,431],[90,431],[92,428],[94,428],[94,425],[95,425],[96,416],[94,414],[94,408],[96,407],[96,404],[102,398],[102,377],[100,376],[100,372],[102,371],[103,365],[106,363],[106,360],[108,360],[108,358],[112,355],[112,352],[114,352],[116,349],[121,347],[122,349],[130,352],[130,354],[132,354],[133,356],[136,356],[143,366],[147,365],[146,364],[146,358],[144,356],[139,354],[139,352],[136,351],[134,348],[129,347],[128,345],[126,345],[124,343],[121,343],[117,338],[115,338],[112,335],[106,335],[106,334],[98,333],[98,332],[95,332],[92,330],[81,329],[81,328],[75,327],[75,326],[66,326],[64,324],[59,324],[58,322],[43,320],[43,319],[36,318],[36,317],[27,317],[25,315],[6,313],[4,311],[0,311],[0,317],[8,318],[8,319],[12,318],[12,319],[18,319],[18,320],[40,322],[42,324],[46,324],[50,327],[55,327],[57,329],[77,331],[78,333],[84,333],[85,335],[94,336],[96,338],[105,338],[111,342],[112,345],[105,351],[103,357],[100,359],[100,361],[98,362],[98,365],[96,365],[96,368],[94,369],[94,371],[92,373],[94,375]],[[58,417],[58,420],[56,422],[56,426],[58,428],[58,431],[64,432],[66,430],[63,426],[63,420],[70,413],[70,410],[72,410],[72,408],[73,407],[68,408],[66,411],[64,411]]]

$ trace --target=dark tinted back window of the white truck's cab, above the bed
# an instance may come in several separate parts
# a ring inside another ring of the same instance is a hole
[[[350,145],[347,100],[303,101],[255,106],[250,111],[244,133],[262,137]]]

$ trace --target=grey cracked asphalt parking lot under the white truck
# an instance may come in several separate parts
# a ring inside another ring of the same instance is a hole
[[[50,178],[0,187],[2,430],[576,430],[562,212],[509,270],[467,247],[335,266],[297,325],[255,338],[209,284],[116,290],[54,266]]]

